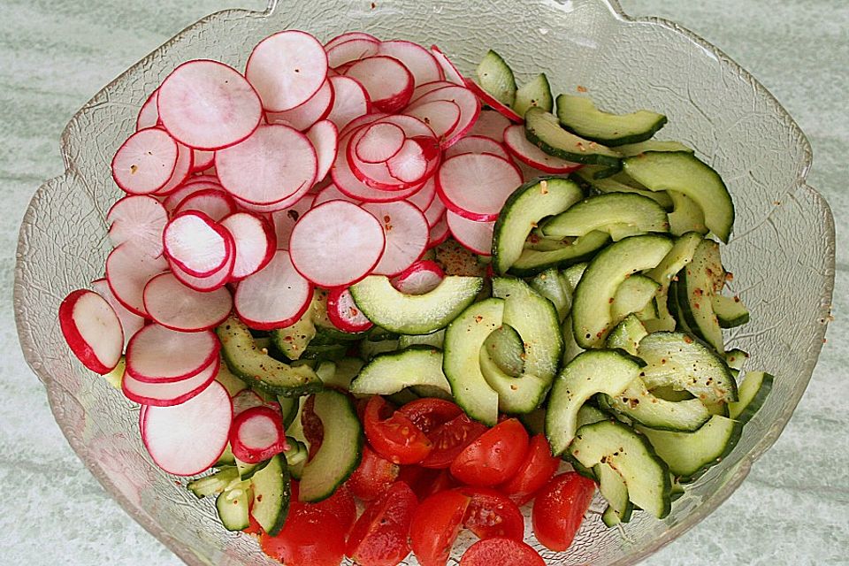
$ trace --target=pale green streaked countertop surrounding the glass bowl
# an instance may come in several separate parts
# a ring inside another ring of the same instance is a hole
[[[689,27],[753,73],[814,148],[808,182],[838,234],[836,320],[782,437],[712,516],[645,563],[849,564],[849,3],[845,0],[623,0],[636,16]],[[77,459],[20,354],[11,310],[14,248],[30,196],[63,171],[58,138],[98,89],[182,27],[263,0],[0,0],[0,564],[178,564]]]

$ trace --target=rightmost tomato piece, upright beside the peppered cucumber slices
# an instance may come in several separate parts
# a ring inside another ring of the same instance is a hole
[[[595,482],[568,471],[552,478],[533,501],[533,532],[539,542],[562,552],[570,547],[595,493]]]

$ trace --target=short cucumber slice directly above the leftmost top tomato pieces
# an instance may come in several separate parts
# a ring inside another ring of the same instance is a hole
[[[409,348],[375,356],[351,382],[350,391],[390,395],[411,386],[432,386],[451,393],[451,386],[442,373],[440,350]]]

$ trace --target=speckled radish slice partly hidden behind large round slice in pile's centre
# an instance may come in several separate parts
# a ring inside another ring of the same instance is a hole
[[[395,275],[407,269],[424,254],[430,237],[430,228],[424,213],[415,204],[406,201],[395,203],[364,203],[377,218],[386,238],[386,249],[373,273]]]

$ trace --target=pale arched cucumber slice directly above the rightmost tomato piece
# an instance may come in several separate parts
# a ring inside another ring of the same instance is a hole
[[[621,350],[589,350],[568,363],[548,398],[546,436],[552,454],[561,455],[575,439],[577,412],[588,399],[598,393],[621,394],[639,371],[639,360]]]

